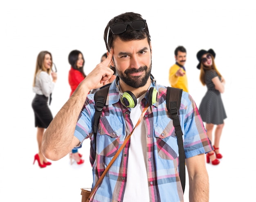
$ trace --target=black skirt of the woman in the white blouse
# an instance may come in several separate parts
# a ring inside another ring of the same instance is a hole
[[[32,101],[32,108],[35,115],[35,127],[47,128],[53,119],[52,112],[48,106],[48,97],[38,95]]]

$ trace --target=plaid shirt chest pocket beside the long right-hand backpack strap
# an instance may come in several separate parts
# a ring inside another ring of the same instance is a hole
[[[178,144],[173,121],[164,118],[154,124],[154,135],[157,145],[158,158],[174,160],[177,158]]]

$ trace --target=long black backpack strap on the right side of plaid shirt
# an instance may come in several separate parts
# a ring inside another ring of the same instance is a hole
[[[171,114],[171,119],[173,120],[173,126],[175,127],[175,134],[177,135],[177,142],[179,147],[179,173],[180,181],[182,184],[183,193],[185,191],[186,184],[186,171],[185,171],[185,152],[182,139],[182,130],[180,126],[179,110],[180,110],[180,100],[182,96],[182,89],[177,89],[173,87],[167,87],[166,93],[166,107]]]

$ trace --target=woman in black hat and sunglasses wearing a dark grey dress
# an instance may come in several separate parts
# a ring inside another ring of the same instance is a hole
[[[218,165],[220,163],[218,159],[222,158],[219,151],[220,136],[224,127],[224,119],[227,118],[227,115],[220,95],[220,93],[224,92],[225,80],[216,69],[215,55],[213,49],[209,49],[208,51],[198,51],[196,57],[199,61],[197,68],[200,69],[200,81],[203,86],[207,86],[207,92],[199,106],[199,112],[202,120],[206,122],[207,135],[214,147],[214,151],[207,153],[207,163],[211,161],[211,164]],[[216,129],[213,142],[212,132],[214,125],[216,125]]]

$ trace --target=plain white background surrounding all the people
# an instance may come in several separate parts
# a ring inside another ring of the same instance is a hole
[[[33,165],[38,152],[31,101],[36,57],[52,53],[58,80],[50,106],[53,115],[69,98],[67,56],[73,49],[85,58],[85,73],[106,52],[103,31],[108,21],[133,11],[147,20],[153,47],[152,73],[166,86],[175,63],[174,49],[187,50],[185,64],[189,91],[199,106],[206,92],[199,81],[196,53],[212,48],[216,65],[226,79],[222,99],[225,120],[218,166],[207,164],[210,202],[252,201],[256,180],[255,144],[255,6],[243,1],[54,1],[0,2],[0,201],[80,201],[80,188],[92,182],[89,140],[79,150],[85,164],[70,165],[69,158],[40,169]],[[189,180],[185,201],[188,201]]]

